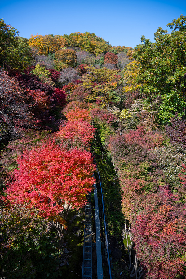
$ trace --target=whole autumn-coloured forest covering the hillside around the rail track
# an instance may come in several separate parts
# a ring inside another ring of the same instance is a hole
[[[0,278],[82,277],[94,158],[116,278],[186,278],[186,16],[167,27],[133,49],[0,20]]]

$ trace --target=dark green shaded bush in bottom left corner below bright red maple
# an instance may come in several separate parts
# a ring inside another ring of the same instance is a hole
[[[34,213],[20,205],[0,210],[2,278],[59,278],[63,250],[51,223]]]

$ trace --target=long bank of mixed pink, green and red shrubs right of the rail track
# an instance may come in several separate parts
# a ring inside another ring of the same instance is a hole
[[[121,185],[122,211],[131,222],[134,249],[148,279],[178,274],[185,278],[185,174],[180,175],[183,186],[174,194],[162,186],[163,173],[152,151],[164,140],[161,133],[138,126],[112,136],[109,144]]]

